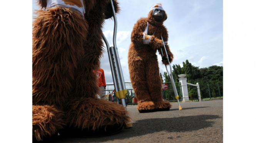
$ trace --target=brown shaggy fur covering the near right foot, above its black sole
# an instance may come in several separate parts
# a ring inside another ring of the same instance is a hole
[[[72,99],[68,103],[67,120],[70,121],[70,126],[78,128],[92,127],[96,130],[100,126],[127,124],[128,112],[124,106],[116,102],[109,102],[102,99],[94,98],[77,98]]]

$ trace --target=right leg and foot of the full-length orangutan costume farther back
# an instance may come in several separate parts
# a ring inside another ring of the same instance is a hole
[[[149,54],[146,62],[147,86],[152,101],[157,110],[169,110],[171,104],[162,99],[162,81],[159,74],[159,67],[156,54]]]

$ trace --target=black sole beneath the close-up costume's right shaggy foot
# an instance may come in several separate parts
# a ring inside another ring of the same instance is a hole
[[[101,137],[101,136],[109,136],[119,133],[124,128],[123,125],[108,125],[102,126],[96,130],[93,130],[92,127],[87,128],[76,128],[76,127],[64,127],[64,129],[60,130],[61,136],[69,136],[69,137]]]

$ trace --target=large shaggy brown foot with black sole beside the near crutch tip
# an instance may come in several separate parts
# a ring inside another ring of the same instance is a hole
[[[60,135],[95,137],[120,132],[131,122],[124,106],[97,98],[75,98],[67,104],[67,128]]]

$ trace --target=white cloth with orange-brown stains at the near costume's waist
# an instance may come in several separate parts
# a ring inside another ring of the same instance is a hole
[[[85,13],[84,0],[76,0],[75,3],[72,3],[72,4],[71,3],[72,3],[71,0],[47,0],[47,8],[55,8],[57,6],[70,8],[70,10],[77,11],[84,17],[84,13]]]

